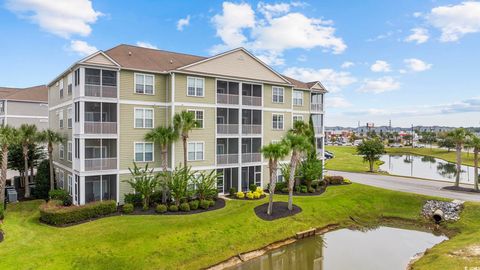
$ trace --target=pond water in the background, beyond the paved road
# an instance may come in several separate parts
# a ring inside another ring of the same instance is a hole
[[[455,182],[455,163],[416,155],[382,155],[380,170],[390,174]],[[460,182],[473,184],[473,167],[462,165]]]

